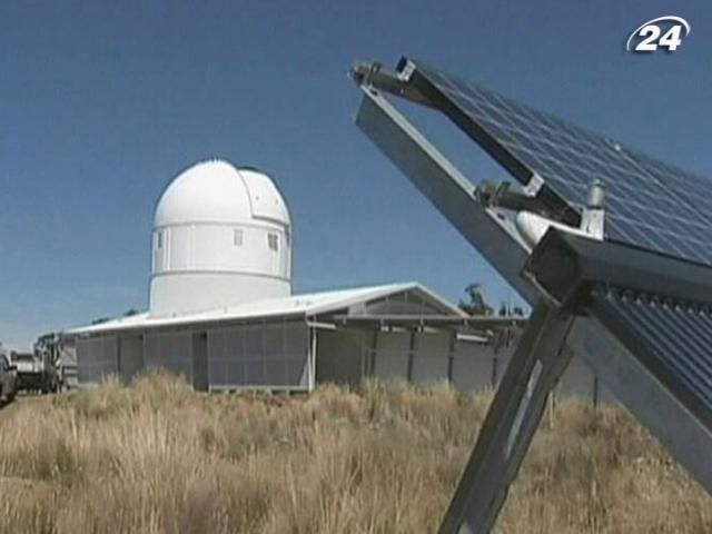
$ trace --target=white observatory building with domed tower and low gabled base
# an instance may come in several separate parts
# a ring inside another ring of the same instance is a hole
[[[201,390],[310,390],[368,376],[472,389],[501,376],[510,346],[492,343],[492,328],[502,319],[473,319],[417,283],[293,295],[291,247],[269,176],[218,159],[187,168],[156,205],[149,309],[66,333],[80,385],[147,367]]]

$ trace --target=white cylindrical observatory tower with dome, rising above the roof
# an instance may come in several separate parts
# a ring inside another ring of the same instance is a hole
[[[222,160],[182,171],[156,207],[150,314],[290,295],[290,226],[287,205],[267,175]]]

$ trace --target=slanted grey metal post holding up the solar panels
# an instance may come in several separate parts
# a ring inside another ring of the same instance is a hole
[[[534,309],[490,406],[441,534],[492,530],[548,394],[571,358],[571,353],[561,347],[572,320],[545,303]]]

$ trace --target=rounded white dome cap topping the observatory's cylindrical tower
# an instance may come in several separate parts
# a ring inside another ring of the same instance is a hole
[[[268,219],[289,225],[287,205],[271,179],[251,168],[214,159],[184,170],[156,206],[156,227],[187,222],[249,222]]]

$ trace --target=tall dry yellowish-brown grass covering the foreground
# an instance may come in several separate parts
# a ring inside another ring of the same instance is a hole
[[[0,412],[0,532],[434,532],[488,396],[202,395],[165,375]],[[507,533],[709,533],[712,500],[625,413],[561,402]]]

